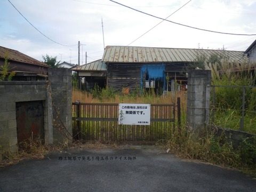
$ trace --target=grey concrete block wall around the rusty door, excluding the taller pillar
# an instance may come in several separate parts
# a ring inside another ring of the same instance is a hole
[[[0,145],[17,151],[16,102],[45,101],[51,103],[47,95],[46,82],[0,82]],[[52,143],[52,113],[46,107],[44,111],[45,143]]]

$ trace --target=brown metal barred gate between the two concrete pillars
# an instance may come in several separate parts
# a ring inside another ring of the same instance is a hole
[[[118,106],[118,103],[74,102],[73,135],[75,138],[105,143],[155,143],[171,137],[175,127],[174,103],[151,104],[150,125],[119,125]],[[179,107],[178,114],[180,115]]]

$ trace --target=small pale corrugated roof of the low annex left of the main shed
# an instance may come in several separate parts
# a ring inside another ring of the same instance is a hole
[[[82,66],[73,67],[71,69],[74,71],[79,71],[79,70],[106,71],[107,66],[105,62],[102,62],[101,59],[99,59],[97,61],[86,63]]]

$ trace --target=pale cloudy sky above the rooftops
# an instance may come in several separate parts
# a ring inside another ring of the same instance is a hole
[[[255,10],[256,0],[0,0],[0,46],[78,64],[79,41],[80,65],[107,45],[245,51]]]

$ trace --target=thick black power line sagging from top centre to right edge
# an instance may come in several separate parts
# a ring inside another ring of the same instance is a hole
[[[166,19],[163,19],[163,18],[160,18],[160,17],[157,17],[155,15],[152,15],[152,14],[149,14],[149,13],[145,13],[143,11],[139,11],[137,9],[133,9],[132,7],[129,7],[127,5],[124,5],[124,4],[121,4],[121,3],[118,3],[118,2],[115,2],[113,0],[109,0],[111,2],[114,2],[114,3],[117,3],[119,5],[122,5],[122,6],[125,6],[129,9],[132,9],[134,11],[137,11],[137,12],[140,12],[140,13],[143,13],[143,14],[146,14],[146,15],[149,15],[151,17],[154,17],[154,18],[157,18],[157,19],[162,19],[164,21],[168,21],[168,22],[171,22],[171,23],[174,23],[174,24],[177,24],[177,25],[180,25],[180,26],[183,26],[183,27],[189,27],[189,28],[193,28],[193,29],[197,29],[197,30],[203,30],[203,31],[207,31],[207,32],[211,32],[211,33],[218,33],[218,34],[225,34],[225,35],[244,35],[244,36],[252,36],[252,35],[256,35],[256,34],[234,34],[234,33],[223,33],[223,32],[220,32],[220,31],[213,31],[213,30],[207,30],[207,29],[201,29],[201,28],[197,28],[197,27],[191,27],[191,26],[188,26],[188,25],[183,25],[181,23],[177,23],[177,22],[174,22],[174,21],[170,21],[170,20],[166,20]]]

